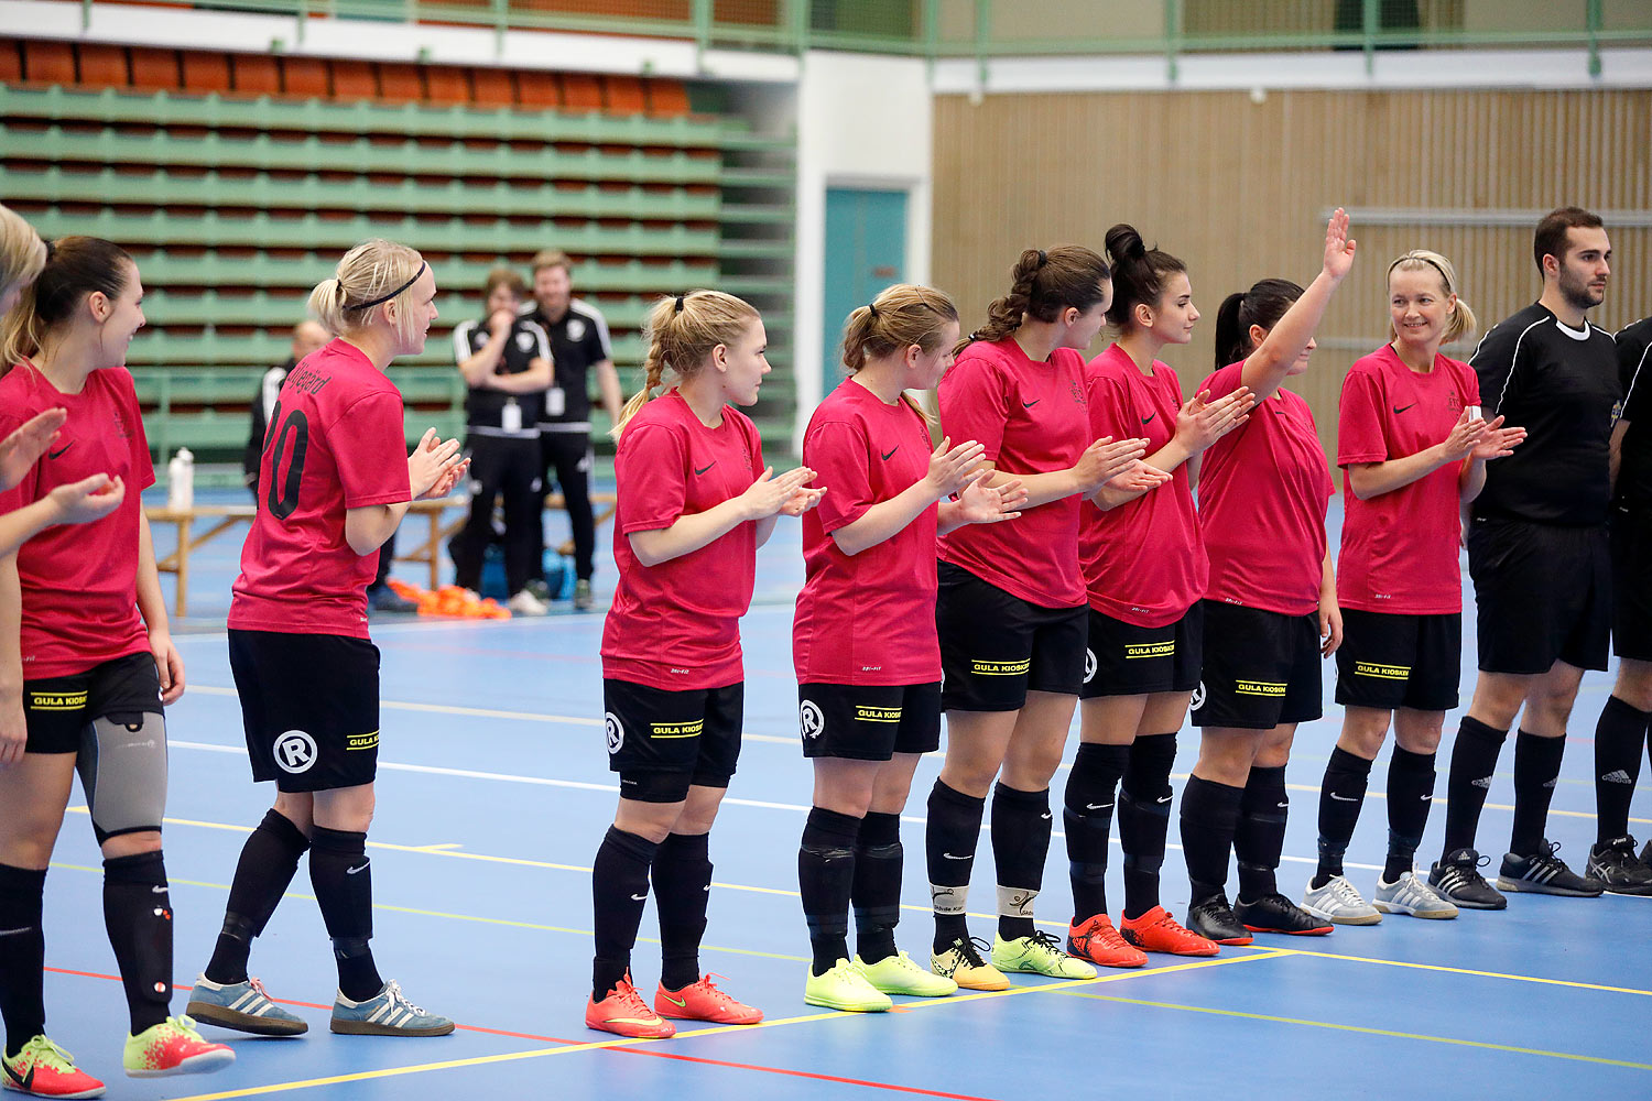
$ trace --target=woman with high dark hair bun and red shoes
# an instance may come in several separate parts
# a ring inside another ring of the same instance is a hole
[[[1158,360],[1165,345],[1193,338],[1188,267],[1150,249],[1133,226],[1107,231],[1118,340],[1085,368],[1090,431],[1142,432],[1146,464],[1170,480],[1151,490],[1104,487],[1082,508],[1079,533],[1089,596],[1089,645],[1079,690],[1079,753],[1067,776],[1067,857],[1072,928],[1067,951],[1104,967],[1140,967],[1146,952],[1214,956],[1160,905],[1158,870],[1170,829],[1170,769],[1176,731],[1199,683],[1209,576],[1193,484],[1199,456],[1246,423],[1244,386],[1214,401],[1181,399],[1181,381]],[[1120,782],[1122,781],[1122,782]],[[1113,806],[1125,853],[1125,908],[1107,908],[1107,845]]]

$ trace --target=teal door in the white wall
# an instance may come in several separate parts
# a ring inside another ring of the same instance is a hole
[[[843,380],[843,324],[905,279],[907,193],[826,188],[826,324],[821,395]]]

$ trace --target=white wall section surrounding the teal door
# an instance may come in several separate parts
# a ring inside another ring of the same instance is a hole
[[[798,432],[821,399],[826,188],[907,191],[907,281],[930,269],[932,106],[928,64],[912,58],[809,51],[798,81],[798,229],[793,338]]]

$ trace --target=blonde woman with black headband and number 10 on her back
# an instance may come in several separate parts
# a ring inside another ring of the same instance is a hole
[[[276,781],[276,801],[241,848],[190,1014],[261,1035],[309,1028],[246,974],[253,938],[307,850],[339,966],[332,1032],[439,1037],[453,1022],[387,982],[367,944],[367,827],[378,764],[378,649],[367,636],[367,586],[408,503],[444,497],[466,469],[459,441],[441,441],[436,429],[408,454],[401,393],[385,376],[392,360],[425,350],[436,279],[416,251],[365,241],[311,292],[309,309],[339,335],[281,385],[264,436],[258,518],[230,604],[230,670],[253,779]]]

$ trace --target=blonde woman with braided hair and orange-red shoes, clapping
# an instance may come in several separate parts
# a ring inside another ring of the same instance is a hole
[[[707,835],[740,756],[745,667],[740,616],[757,548],[775,520],[824,490],[808,467],[775,477],[752,419],[768,335],[757,310],[719,291],[661,299],[648,315],[648,381],[615,434],[620,584],[603,624],[608,768],[620,807],[591,872],[596,956],[585,1025],[662,1038],[677,1020],[753,1025],[762,1010],[700,974],[712,883]],[[657,398],[654,391],[672,385]],[[653,1009],[631,984],[649,885],[664,956]]]

